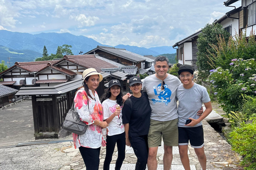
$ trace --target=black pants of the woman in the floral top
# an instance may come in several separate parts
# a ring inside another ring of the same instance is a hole
[[[100,165],[100,147],[97,149],[79,147],[86,170],[98,170]]]

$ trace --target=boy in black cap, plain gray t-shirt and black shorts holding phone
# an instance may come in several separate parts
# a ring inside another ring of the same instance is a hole
[[[211,100],[205,87],[193,82],[193,66],[181,65],[178,74],[182,82],[177,89],[180,159],[183,167],[190,169],[188,158],[188,142],[190,142],[202,169],[206,170],[204,132],[201,121],[212,112]],[[202,107],[202,103],[206,109],[201,116],[198,116],[197,111]]]

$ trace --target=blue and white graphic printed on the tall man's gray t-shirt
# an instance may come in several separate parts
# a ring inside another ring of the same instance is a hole
[[[161,89],[161,84],[158,84],[157,87],[154,86],[154,92],[155,95],[158,97],[158,99],[152,99],[153,104],[160,102],[160,103],[165,103],[165,105],[168,105],[168,103],[170,103],[171,101],[171,95],[172,95],[172,91],[168,88],[167,84],[164,84],[164,89]]]

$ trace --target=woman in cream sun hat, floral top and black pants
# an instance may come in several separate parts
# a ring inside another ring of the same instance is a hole
[[[103,122],[102,106],[95,91],[102,79],[102,75],[95,69],[86,69],[83,72],[83,87],[78,88],[74,98],[76,111],[88,125],[84,134],[73,133],[74,146],[79,148],[87,170],[99,169],[100,147],[106,146],[101,129],[108,124]]]

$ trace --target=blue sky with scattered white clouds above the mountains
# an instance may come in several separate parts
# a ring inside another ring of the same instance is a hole
[[[110,46],[172,46],[234,9],[223,1],[0,0],[0,30],[69,32]]]

